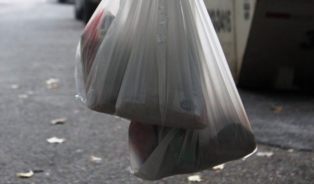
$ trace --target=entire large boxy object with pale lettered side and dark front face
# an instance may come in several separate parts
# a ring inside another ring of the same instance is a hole
[[[314,0],[204,0],[239,86],[314,88]]]

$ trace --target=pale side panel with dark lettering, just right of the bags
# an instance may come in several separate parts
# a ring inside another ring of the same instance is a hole
[[[237,82],[256,0],[204,0],[204,3]]]

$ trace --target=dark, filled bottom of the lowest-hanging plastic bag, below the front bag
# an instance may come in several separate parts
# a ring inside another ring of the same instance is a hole
[[[135,176],[159,180],[206,170],[256,151],[254,135],[240,123],[217,134],[209,128],[186,130],[131,121],[129,158]]]

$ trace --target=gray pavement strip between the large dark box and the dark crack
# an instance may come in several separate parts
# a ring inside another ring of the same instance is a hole
[[[239,93],[259,143],[314,150],[314,95],[262,89]]]

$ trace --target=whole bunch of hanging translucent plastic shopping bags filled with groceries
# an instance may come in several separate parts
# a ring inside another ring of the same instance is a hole
[[[203,0],[102,0],[77,49],[78,95],[131,121],[134,174],[241,159],[256,142]]]

